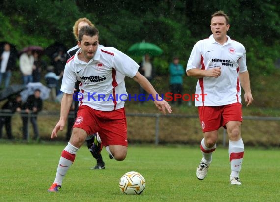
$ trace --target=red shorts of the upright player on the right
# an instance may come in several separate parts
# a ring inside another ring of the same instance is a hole
[[[242,105],[233,103],[224,106],[199,106],[199,118],[203,132],[218,130],[229,121],[242,122]]]

